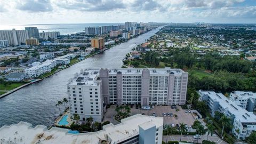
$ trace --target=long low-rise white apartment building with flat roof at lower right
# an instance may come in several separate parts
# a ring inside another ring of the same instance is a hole
[[[212,117],[214,117],[215,111],[220,111],[231,119],[232,133],[237,139],[244,140],[253,131],[256,131],[256,116],[237,106],[222,93],[199,90],[199,95],[200,100],[207,102]]]

